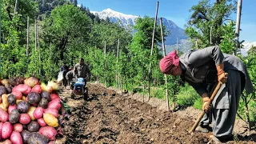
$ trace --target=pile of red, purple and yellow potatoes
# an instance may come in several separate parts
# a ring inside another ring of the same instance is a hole
[[[0,143],[54,143],[62,109],[56,82],[38,78],[0,81]]]

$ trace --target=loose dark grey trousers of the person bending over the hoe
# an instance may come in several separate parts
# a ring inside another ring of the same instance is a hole
[[[234,128],[235,115],[238,110],[239,99],[244,89],[243,74],[237,70],[228,70],[226,87],[216,95],[214,108],[202,118],[201,125],[213,122],[213,134],[216,137],[229,137]]]

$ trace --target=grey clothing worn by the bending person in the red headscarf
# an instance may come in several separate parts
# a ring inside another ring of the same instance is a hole
[[[235,114],[242,90],[250,94],[254,87],[242,61],[233,55],[222,54],[218,46],[206,47],[202,50],[190,50],[180,58],[182,78],[190,83],[200,96],[214,89],[218,76],[216,66],[224,63],[224,70],[229,74],[226,87],[214,99],[212,118],[214,120],[214,135],[217,137],[232,134]],[[240,89],[238,89],[240,87]],[[239,91],[240,90],[240,91]],[[210,114],[210,115],[211,115]],[[211,122],[205,115],[202,125]],[[227,119],[227,120],[226,120]]]

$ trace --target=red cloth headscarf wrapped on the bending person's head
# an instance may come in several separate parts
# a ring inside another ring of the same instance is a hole
[[[162,58],[159,66],[162,73],[166,74],[173,66],[178,66],[179,59],[176,50],[170,52],[166,57]]]

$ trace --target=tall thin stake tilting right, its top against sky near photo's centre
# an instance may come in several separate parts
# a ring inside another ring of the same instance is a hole
[[[155,10],[154,29],[153,29],[153,34],[152,34],[152,43],[151,43],[150,58],[152,58],[152,55],[153,55],[153,48],[154,48],[154,30],[155,30],[155,26],[157,25],[157,19],[158,19],[158,4],[159,4],[159,2],[157,2],[157,7],[156,7],[156,10]],[[152,70],[151,70],[151,62],[150,62],[150,70],[149,70],[149,89],[148,89],[148,94],[147,94],[148,100],[150,100],[151,73],[152,73]]]

